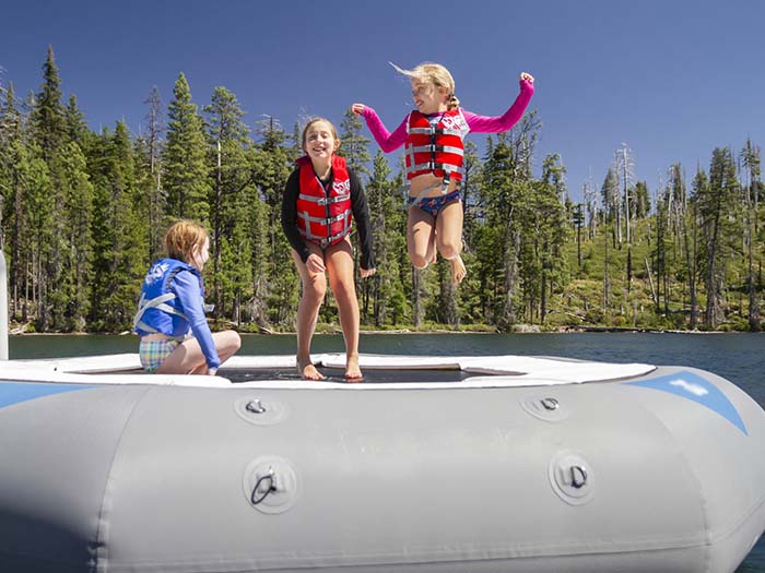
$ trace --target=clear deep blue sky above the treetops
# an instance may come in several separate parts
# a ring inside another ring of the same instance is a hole
[[[138,132],[152,86],[167,105],[179,72],[200,108],[215,86],[234,92],[250,126],[263,115],[287,131],[305,116],[339,122],[362,102],[392,130],[411,98],[387,62],[429,60],[483,115],[503,112],[518,74],[533,74],[534,172],[560,153],[575,200],[590,174],[600,188],[622,142],[651,193],[674,162],[690,181],[716,146],[765,144],[760,0],[448,0],[420,13],[408,0],[2,3],[3,84],[37,91],[51,44],[64,96],[76,95],[95,130],[122,119]],[[483,135],[471,139],[483,148]]]

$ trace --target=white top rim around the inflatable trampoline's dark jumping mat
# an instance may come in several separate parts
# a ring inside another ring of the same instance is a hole
[[[315,363],[343,369],[344,354],[314,355]],[[396,356],[362,355],[362,370],[462,370],[491,375],[476,375],[456,382],[380,382],[338,383],[307,380],[261,380],[232,383],[223,377],[181,374],[146,374],[141,371],[137,354],[0,361],[0,381],[24,381],[68,384],[153,384],[224,389],[311,389],[311,390],[381,390],[381,389],[455,389],[508,387],[581,384],[636,378],[656,369],[644,363],[575,361],[529,356]],[[229,370],[294,368],[294,355],[235,356],[225,363]],[[136,373],[109,373],[134,370]]]

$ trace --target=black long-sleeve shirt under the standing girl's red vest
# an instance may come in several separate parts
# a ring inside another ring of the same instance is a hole
[[[372,252],[372,223],[369,219],[369,206],[366,202],[366,193],[356,174],[349,169],[348,175],[351,182],[351,211],[356,222],[358,247],[362,251],[360,263],[362,268],[374,268],[375,255]],[[321,181],[325,193],[332,187],[334,171],[330,170],[329,179]],[[286,235],[292,248],[295,249],[295,252],[301,255],[301,260],[305,263],[308,260],[310,251],[306,246],[305,239],[297,230],[297,195],[299,192],[301,169],[298,167],[290,175],[284,188],[284,196],[282,198],[282,229],[284,229],[284,235]]]

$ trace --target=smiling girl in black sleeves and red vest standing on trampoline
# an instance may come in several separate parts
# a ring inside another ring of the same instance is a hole
[[[353,282],[351,215],[358,226],[361,276],[375,274],[372,230],[366,195],[345,159],[334,155],[338,132],[328,120],[317,118],[303,130],[303,151],[286,182],[282,202],[282,228],[303,284],[297,307],[297,371],[307,380],[325,377],[310,361],[310,339],[327,291],[327,277],[338,301],[340,326],[345,338],[345,378],[360,380],[358,301]]]

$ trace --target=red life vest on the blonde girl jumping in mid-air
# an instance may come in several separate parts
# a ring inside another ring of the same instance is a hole
[[[407,179],[433,174],[445,180],[461,181],[462,138],[468,131],[468,122],[459,108],[444,111],[434,122],[420,111],[410,112],[407,121]]]

